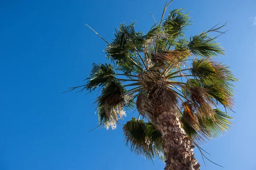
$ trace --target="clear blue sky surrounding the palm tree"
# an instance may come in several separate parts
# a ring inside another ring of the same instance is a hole
[[[0,3],[0,170],[161,170],[123,142],[122,128],[96,127],[96,93],[61,94],[80,85],[91,62],[105,62],[105,39],[120,23],[137,21],[148,31],[165,0],[9,0]],[[241,81],[236,89],[233,128],[202,147],[225,170],[256,170],[255,0],[174,0],[169,6],[191,11],[188,36],[228,21],[219,38]],[[132,115],[128,116],[128,119]],[[121,122],[122,123],[122,122]],[[195,151],[201,170],[224,170]]]

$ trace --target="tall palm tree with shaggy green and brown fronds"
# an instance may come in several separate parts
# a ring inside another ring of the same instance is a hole
[[[188,40],[188,13],[175,9],[163,20],[168,5],[147,34],[131,23],[121,24],[111,43],[101,37],[111,62],[93,63],[87,83],[70,91],[101,89],[99,126],[107,129],[115,129],[125,111],[136,108],[138,118],[123,125],[131,150],[165,160],[165,170],[198,170],[192,148],[229,129],[232,117],[221,108],[232,109],[236,78],[227,65],[213,60],[224,49],[209,33],[223,34],[225,24]]]

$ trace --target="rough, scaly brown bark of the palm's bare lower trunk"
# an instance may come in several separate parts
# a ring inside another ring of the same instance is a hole
[[[199,170],[200,164],[194,158],[191,139],[181,127],[179,117],[170,112],[157,116],[157,126],[163,137],[163,151],[166,156],[165,170]]]

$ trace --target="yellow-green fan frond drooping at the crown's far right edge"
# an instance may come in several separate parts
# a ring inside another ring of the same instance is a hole
[[[201,82],[212,101],[218,101],[227,108],[232,107],[233,83],[237,79],[226,65],[207,59],[194,60],[191,73]]]

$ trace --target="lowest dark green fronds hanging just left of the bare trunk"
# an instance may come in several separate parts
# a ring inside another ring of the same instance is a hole
[[[154,159],[156,156],[163,158],[163,141],[159,133],[151,123],[132,118],[123,126],[126,145],[130,145],[131,151],[146,159]]]

